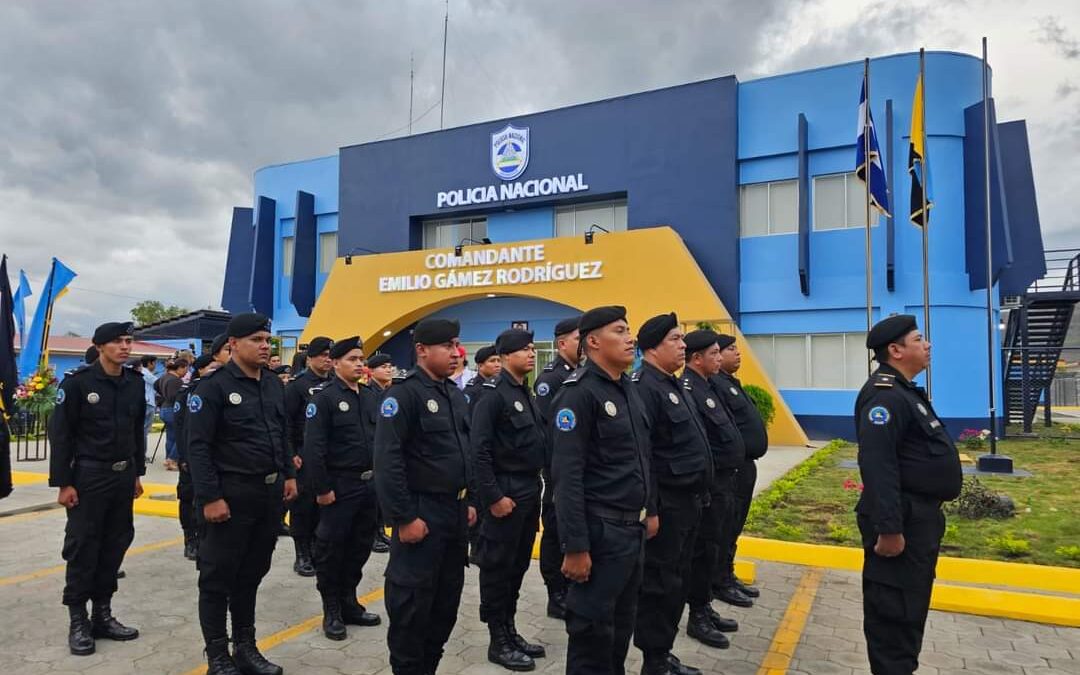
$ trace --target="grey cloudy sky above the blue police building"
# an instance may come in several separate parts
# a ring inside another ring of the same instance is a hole
[[[139,299],[220,301],[228,222],[259,166],[438,127],[443,0],[0,4],[0,252],[79,276],[55,330]],[[445,124],[734,73],[746,80],[990,41],[1025,118],[1047,246],[1080,245],[1080,3],[450,0]],[[37,298],[35,297],[33,300]],[[32,305],[32,301],[31,301]]]

